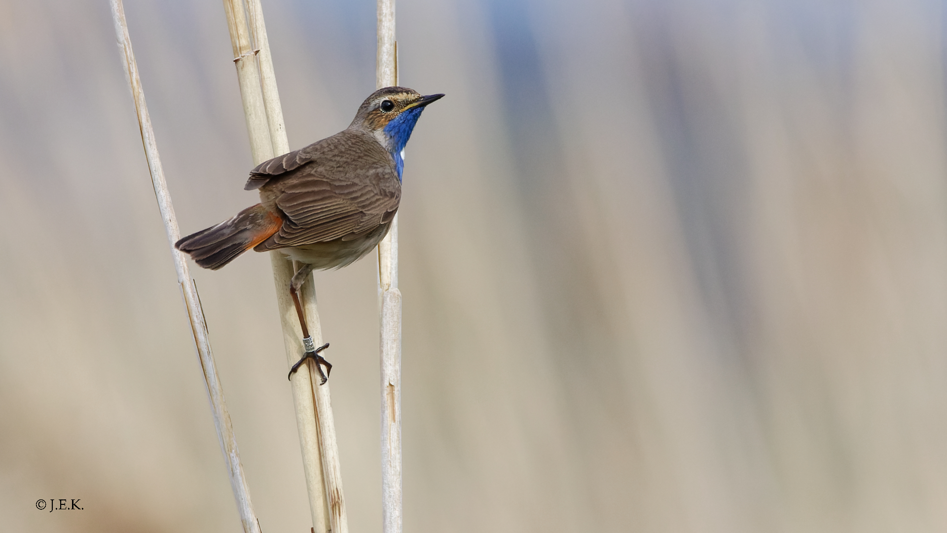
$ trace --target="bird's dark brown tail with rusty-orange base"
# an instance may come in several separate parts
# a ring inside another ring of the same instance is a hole
[[[261,204],[246,208],[230,220],[200,230],[174,243],[201,267],[216,270],[279,230],[283,220]]]

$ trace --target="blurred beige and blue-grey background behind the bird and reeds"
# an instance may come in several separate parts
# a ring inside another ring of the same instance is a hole
[[[221,3],[125,9],[181,230],[255,203]],[[346,127],[374,3],[263,9],[291,146]],[[945,28],[399,0],[402,85],[447,93],[404,174],[405,531],[947,530]],[[2,0],[0,46],[4,529],[239,531],[108,3]],[[375,271],[315,277],[353,532]],[[192,272],[262,528],[309,531],[269,258]]]

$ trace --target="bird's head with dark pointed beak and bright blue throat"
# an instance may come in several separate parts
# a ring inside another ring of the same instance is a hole
[[[384,148],[395,157],[398,175],[401,176],[401,153],[424,106],[438,101],[444,95],[421,96],[407,87],[384,87],[371,93],[362,102],[349,129],[362,129],[372,133]]]

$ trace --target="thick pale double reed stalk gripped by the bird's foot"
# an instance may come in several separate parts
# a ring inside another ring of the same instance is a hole
[[[227,26],[234,50],[241,98],[254,163],[289,152],[283,124],[276,76],[259,0],[224,0]],[[258,61],[253,61],[254,59]],[[277,305],[283,342],[290,366],[303,353],[302,331],[288,288],[295,269],[278,251],[270,253],[277,286]],[[313,341],[322,344],[322,328],[315,305],[313,280],[303,285],[300,297]],[[317,344],[317,345],[318,345]],[[335,441],[329,384],[318,384],[312,359],[292,379],[296,424],[303,455],[306,487],[315,533],[348,533],[348,517],[342,490],[341,464]]]

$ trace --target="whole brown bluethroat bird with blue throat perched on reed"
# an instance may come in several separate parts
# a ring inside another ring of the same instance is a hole
[[[290,282],[305,353],[326,382],[332,365],[309,336],[299,288],[313,268],[350,265],[375,248],[391,227],[402,197],[402,151],[424,107],[444,95],[421,96],[406,87],[384,87],[358,108],[345,130],[260,163],[246,191],[259,189],[259,204],[174,244],[200,267],[216,270],[244,251],[278,249],[302,264]],[[322,365],[326,373],[322,372]]]

